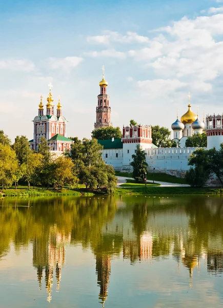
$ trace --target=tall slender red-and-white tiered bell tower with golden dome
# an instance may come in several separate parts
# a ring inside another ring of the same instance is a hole
[[[111,107],[109,106],[109,95],[107,94],[108,83],[105,80],[104,71],[105,67],[103,65],[103,78],[99,82],[100,94],[97,95],[97,107],[96,107],[96,122],[94,123],[94,128],[102,128],[112,126],[111,123]]]

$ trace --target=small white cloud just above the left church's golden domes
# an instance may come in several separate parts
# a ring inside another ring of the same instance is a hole
[[[52,69],[63,69],[69,71],[70,69],[78,66],[83,61],[83,57],[67,56],[65,58],[50,57],[48,63]]]

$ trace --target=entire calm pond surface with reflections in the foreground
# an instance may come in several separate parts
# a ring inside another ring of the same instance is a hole
[[[221,197],[0,202],[0,308],[223,307]]]

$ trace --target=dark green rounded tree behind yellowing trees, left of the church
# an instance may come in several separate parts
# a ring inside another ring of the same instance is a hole
[[[25,136],[17,136],[12,148],[16,153],[16,158],[19,161],[19,164],[27,162],[31,149],[29,140]]]

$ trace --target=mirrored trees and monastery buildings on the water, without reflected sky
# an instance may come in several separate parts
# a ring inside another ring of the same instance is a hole
[[[19,254],[32,243],[32,265],[40,290],[45,283],[48,302],[54,280],[56,291],[60,288],[66,246],[81,244],[84,251],[91,249],[98,301],[103,306],[116,258],[151,266],[172,258],[177,268],[188,268],[191,288],[193,271],[199,271],[201,260],[209,275],[223,272],[223,202],[219,197],[5,199],[1,205],[0,262],[11,246]]]

